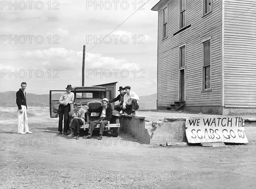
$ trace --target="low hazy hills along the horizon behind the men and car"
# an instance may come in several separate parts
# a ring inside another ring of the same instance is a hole
[[[38,104],[41,105],[49,105],[49,94],[37,95],[32,93],[26,93],[27,96],[27,104],[31,106],[36,106]],[[59,99],[61,93],[55,93],[52,95],[53,99]],[[0,103],[1,107],[3,104],[7,106],[16,106],[16,92],[15,91],[6,91],[0,93]],[[157,109],[157,94],[152,94],[148,96],[140,96],[139,101],[140,109],[139,110],[156,110]]]

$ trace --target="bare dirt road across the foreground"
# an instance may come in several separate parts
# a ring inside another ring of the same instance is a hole
[[[98,141],[57,134],[57,123],[31,123],[33,134],[1,124],[0,188],[256,188],[256,145],[161,147],[131,136]]]

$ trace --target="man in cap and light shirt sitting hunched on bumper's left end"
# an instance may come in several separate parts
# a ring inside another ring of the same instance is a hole
[[[80,125],[84,125],[84,113],[85,110],[81,108],[82,103],[76,102],[75,108],[69,112],[70,116],[72,116],[72,119],[70,121],[71,126],[71,133],[68,135],[68,137],[74,137],[76,134],[76,140],[79,139],[79,129]]]

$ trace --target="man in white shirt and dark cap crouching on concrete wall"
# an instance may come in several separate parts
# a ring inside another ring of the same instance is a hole
[[[132,114],[135,115],[135,111],[139,109],[138,100],[139,96],[137,96],[136,93],[131,91],[130,86],[126,86],[125,88],[125,96],[124,96],[124,102],[121,107],[122,111],[127,113],[128,115]]]

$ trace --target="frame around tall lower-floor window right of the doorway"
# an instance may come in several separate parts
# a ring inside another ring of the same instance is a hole
[[[204,44],[206,43],[210,43],[209,45],[209,64],[208,65],[204,65]],[[205,88],[205,68],[209,67],[209,88]],[[212,90],[212,39],[211,37],[205,38],[204,40],[202,40],[202,92],[203,91],[211,91]]]

